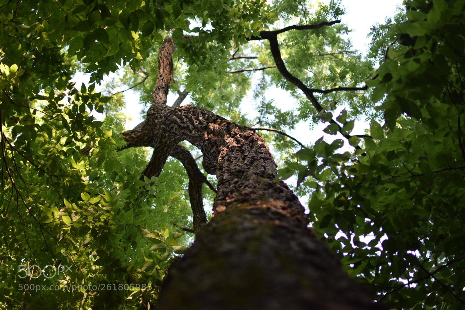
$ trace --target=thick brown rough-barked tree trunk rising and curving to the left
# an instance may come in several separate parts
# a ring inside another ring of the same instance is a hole
[[[170,49],[167,39],[159,66],[172,66]],[[169,87],[169,70],[159,68],[160,75],[157,85]],[[147,176],[159,175],[169,155],[186,155],[177,144],[190,142],[202,151],[206,172],[217,175],[218,192],[212,220],[170,268],[157,309],[381,309],[307,228],[297,196],[275,182],[264,140],[203,108],[167,107],[165,88],[155,87],[146,121],[123,137],[154,148]]]

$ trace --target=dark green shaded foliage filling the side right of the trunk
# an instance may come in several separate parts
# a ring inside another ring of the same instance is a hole
[[[366,83],[384,125],[350,141],[357,156],[333,155],[337,140],[296,154],[316,231],[392,309],[465,304],[464,5],[408,1],[397,23],[374,27],[373,56],[386,53]]]

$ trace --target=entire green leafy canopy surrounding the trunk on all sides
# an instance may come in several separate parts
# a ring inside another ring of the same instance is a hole
[[[141,127],[124,128],[124,86],[140,93],[144,117],[164,87],[165,102],[168,89],[175,106],[189,95],[259,132],[277,181],[296,176],[314,232],[373,300],[462,309],[464,6],[405,1],[372,27],[363,57],[344,39],[341,1],[0,0],[0,304],[148,309],[211,217],[211,158],[181,142],[177,159],[150,170],[157,149],[128,139]],[[173,80],[160,86],[167,38]],[[78,72],[90,73],[88,87],[72,82]],[[297,108],[269,100],[272,86]],[[239,107],[247,92],[254,119]],[[337,105],[346,108],[333,115]],[[370,130],[351,135],[361,118]],[[340,139],[286,135],[308,120]]]

